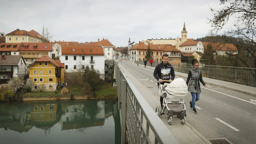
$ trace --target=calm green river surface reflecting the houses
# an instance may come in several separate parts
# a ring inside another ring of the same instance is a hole
[[[42,135],[42,131],[44,135]],[[24,137],[31,139],[32,135],[36,135],[32,139],[42,139],[37,143],[46,143],[45,141],[48,139],[54,139],[53,136],[69,137],[68,140],[63,139],[64,143],[72,139],[88,140],[86,143],[102,143],[106,139],[109,142],[113,141],[112,143],[120,143],[121,141],[120,117],[115,100],[1,103],[0,135],[3,139],[0,141],[5,141],[5,137],[2,136],[8,137],[10,134],[15,134],[14,132],[25,133],[20,139],[28,143],[31,141],[25,140]],[[102,140],[90,139],[95,134],[107,135],[108,137],[101,136]],[[48,139],[45,140],[44,136],[47,136]],[[7,137],[6,142],[10,143],[10,139],[7,140]],[[21,136],[17,135],[16,139],[19,137]],[[52,140],[50,143],[56,142],[56,140]],[[60,140],[58,140],[59,142]],[[15,143],[14,140],[13,143]]]

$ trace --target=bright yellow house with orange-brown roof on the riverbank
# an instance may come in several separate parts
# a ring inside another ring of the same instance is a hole
[[[64,63],[43,56],[29,67],[29,78],[34,87],[32,91],[55,91],[58,84],[64,83]]]

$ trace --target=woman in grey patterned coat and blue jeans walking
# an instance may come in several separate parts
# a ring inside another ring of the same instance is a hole
[[[199,81],[206,87],[206,84],[203,81],[202,73],[199,68],[199,62],[198,60],[194,59],[192,60],[192,66],[190,67],[190,70],[188,71],[188,79],[187,79],[187,85],[188,85],[188,92],[191,93],[192,100],[188,103],[190,104],[190,108],[193,108],[193,113],[197,114],[196,112],[196,101],[200,99],[200,83]]]

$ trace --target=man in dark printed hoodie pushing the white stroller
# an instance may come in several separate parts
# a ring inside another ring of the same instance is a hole
[[[171,83],[175,78],[174,68],[172,65],[168,62],[169,56],[168,54],[164,54],[162,56],[163,61],[156,65],[156,68],[154,70],[154,77],[157,81],[160,82],[160,84],[164,83]],[[168,80],[169,82],[163,82],[163,80]],[[158,89],[159,89],[159,83],[157,83]],[[164,98],[160,96],[160,104],[163,109],[163,100]]]

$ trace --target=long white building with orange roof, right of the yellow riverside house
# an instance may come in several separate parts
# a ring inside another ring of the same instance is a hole
[[[61,46],[60,62],[65,64],[66,72],[76,71],[79,67],[85,68],[88,65],[105,75],[105,57],[103,48],[100,47]]]

